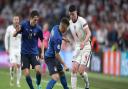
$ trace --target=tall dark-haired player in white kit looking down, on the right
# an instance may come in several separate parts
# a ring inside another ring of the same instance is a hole
[[[85,89],[89,89],[87,69],[90,64],[91,56],[91,31],[88,27],[87,21],[83,17],[78,16],[77,8],[74,5],[69,7],[69,16],[69,29],[75,42],[75,51],[72,61],[71,86],[72,89],[77,89],[77,72],[79,72],[85,81]]]

